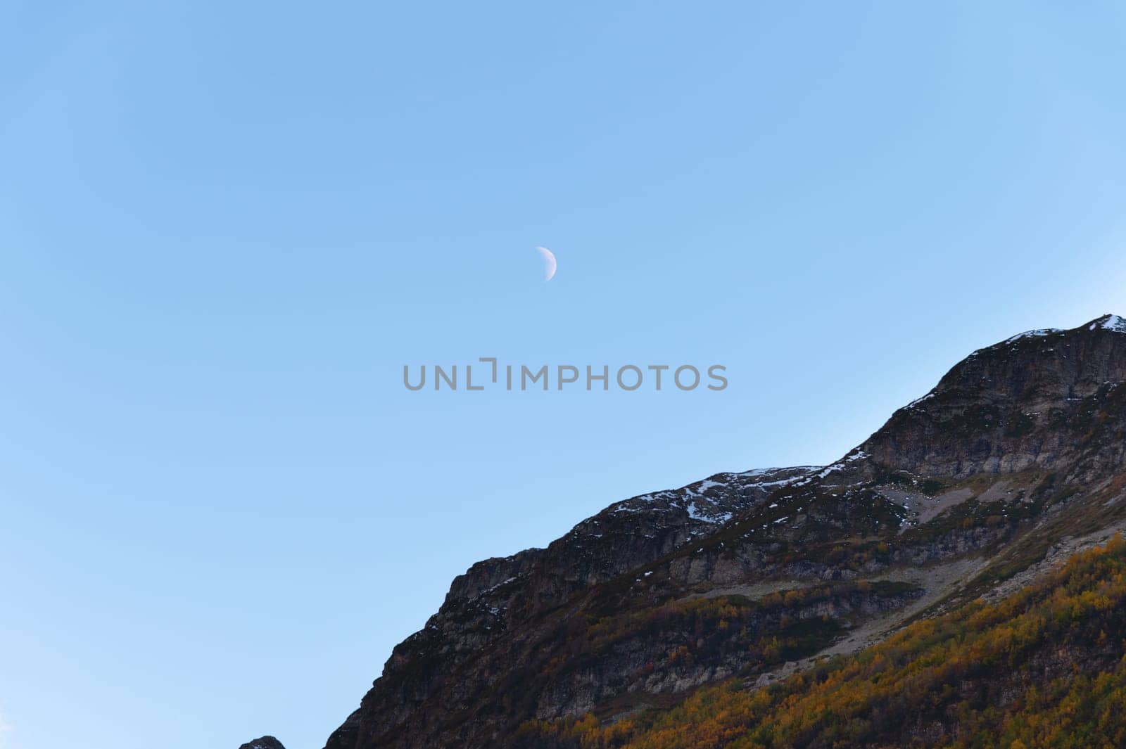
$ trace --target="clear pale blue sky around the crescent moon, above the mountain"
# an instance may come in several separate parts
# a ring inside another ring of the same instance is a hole
[[[1121,7],[923,4],[0,2],[2,746],[319,749],[472,562],[1126,314]]]

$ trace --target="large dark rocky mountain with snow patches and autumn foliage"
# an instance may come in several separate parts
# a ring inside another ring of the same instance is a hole
[[[633,497],[546,549],[477,562],[394,649],[327,749],[833,746],[847,732],[832,721],[793,728],[786,711],[824,684],[875,694],[872,658],[913,678],[930,707],[892,701],[899,712],[883,710],[883,728],[837,746],[945,746],[968,730],[974,705],[1000,720],[1036,678],[1103,674],[1123,655],[1121,642],[1067,650],[1070,630],[1030,628],[1027,651],[1003,651],[1011,662],[992,676],[912,670],[927,648],[949,646],[936,631],[988,638],[1007,616],[1065,605],[1037,586],[1126,527],[1124,437],[1120,317],[975,351],[830,466]],[[1126,556],[1111,547],[1105,557]],[[1112,602],[1096,617],[1098,631],[1117,628],[1106,641],[1126,621],[1118,568],[1100,569],[1074,596]],[[962,703],[965,721],[950,718]],[[708,712],[716,704],[730,707],[722,721]],[[754,739],[771,720],[793,730]],[[692,731],[706,731],[703,742],[685,739]]]

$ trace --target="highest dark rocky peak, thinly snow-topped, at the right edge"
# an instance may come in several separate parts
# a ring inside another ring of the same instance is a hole
[[[1115,406],[1126,399],[1120,333],[1126,321],[1105,315],[980,349],[861,446],[884,468],[929,476],[1120,464],[1112,444],[1121,427]]]

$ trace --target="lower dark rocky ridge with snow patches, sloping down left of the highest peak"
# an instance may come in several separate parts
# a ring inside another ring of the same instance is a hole
[[[368,746],[357,743],[364,741],[360,737],[397,733],[410,724],[417,707],[431,700],[450,710],[464,709],[502,675],[503,667],[483,661],[482,652],[501,648],[502,661],[542,660],[547,652],[539,647],[542,640],[553,637],[561,621],[560,607],[577,595],[709,535],[734,514],[761,504],[774,489],[808,470],[720,473],[681,489],[641,495],[582,521],[547,549],[477,562],[454,580],[426,628],[395,647],[378,683],[379,689],[394,683],[399,698],[376,711],[356,711],[329,746]],[[537,626],[525,628],[529,622]],[[518,655],[525,651],[529,652]],[[464,677],[450,678],[466,668]],[[379,689],[373,688],[365,701],[377,698]],[[403,740],[425,746],[438,739],[404,736]]]

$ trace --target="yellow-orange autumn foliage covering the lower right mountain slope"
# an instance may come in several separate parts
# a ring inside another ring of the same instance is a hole
[[[724,612],[727,619],[738,620]],[[876,647],[769,688],[747,689],[734,680],[700,689],[668,712],[613,725],[587,715],[534,721],[524,731],[555,739],[547,746],[579,749],[1123,747],[1126,643],[1106,634],[1123,630],[1126,541],[1116,535],[1076,554],[1042,585],[917,622]],[[1060,658],[1097,642],[1103,651],[1116,648],[1101,671],[1064,670],[1046,684],[1035,683],[1033,673],[1011,678],[1028,668],[1031,653]],[[761,644],[763,655],[779,647],[777,638]],[[670,653],[670,660],[686,657],[683,647]],[[1003,679],[1017,685],[1016,698],[990,696]],[[933,724],[946,729],[911,732],[912,725]]]

